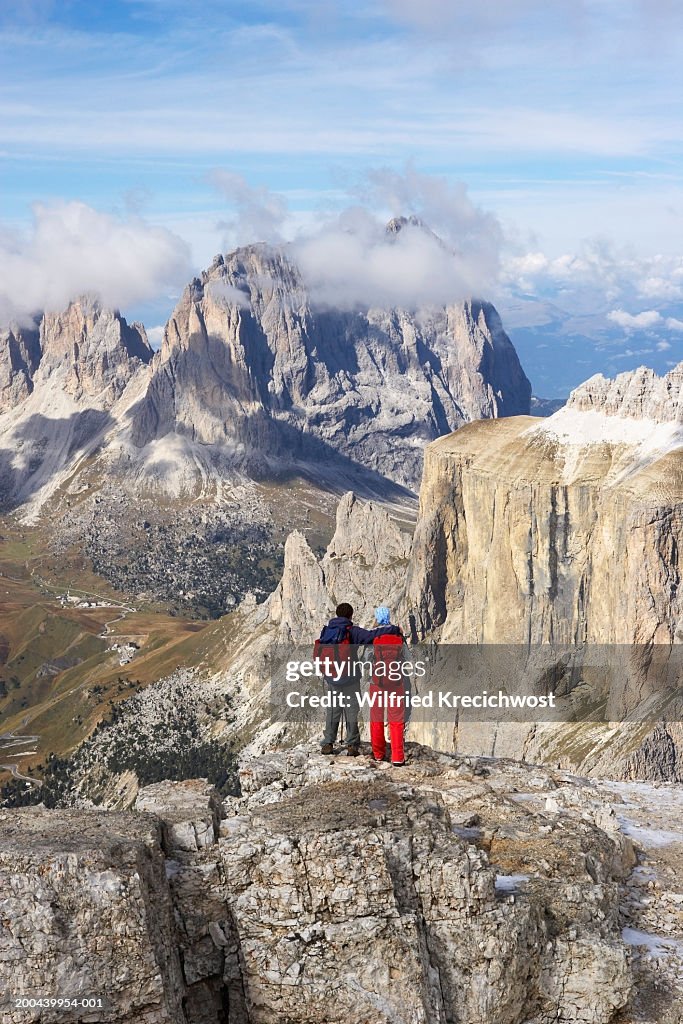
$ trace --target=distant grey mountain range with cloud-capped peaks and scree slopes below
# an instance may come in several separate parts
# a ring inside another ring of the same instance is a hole
[[[202,613],[265,596],[287,532],[327,543],[344,490],[414,514],[425,444],[529,411],[489,303],[322,307],[266,245],[217,256],[158,352],[87,298],[3,340],[5,510],[49,522],[53,548],[84,548],[119,589]]]

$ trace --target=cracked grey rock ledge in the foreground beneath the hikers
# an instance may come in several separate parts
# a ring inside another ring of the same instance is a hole
[[[657,951],[636,791],[411,753],[271,754],[223,802],[194,780],[136,812],[0,812],[0,990],[104,1000],[3,1020],[680,1020],[678,904]],[[659,788],[677,799],[647,806]]]

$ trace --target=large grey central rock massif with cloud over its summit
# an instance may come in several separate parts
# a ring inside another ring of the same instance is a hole
[[[527,413],[529,398],[489,304],[315,308],[286,253],[259,245],[216,257],[185,290],[133,439],[176,432],[261,470],[339,453],[416,486],[425,442],[470,419]]]

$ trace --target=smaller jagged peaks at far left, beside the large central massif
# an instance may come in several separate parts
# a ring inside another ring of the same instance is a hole
[[[140,325],[80,299],[10,332],[0,367],[0,501],[39,507],[125,422],[153,352]],[[0,409],[2,412],[2,409]],[[57,510],[60,512],[63,510]],[[56,524],[56,523],[55,523]]]

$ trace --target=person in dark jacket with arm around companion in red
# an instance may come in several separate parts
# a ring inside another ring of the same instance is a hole
[[[364,630],[362,627],[355,626],[352,618],[353,608],[350,604],[344,601],[337,605],[337,614],[323,628],[318,643],[351,645],[347,658],[347,674],[338,682],[326,679],[326,687],[328,692],[332,694],[333,700],[326,712],[322,753],[334,754],[339,723],[344,715],[347,730],[346,753],[349,757],[355,758],[360,753],[360,733],[358,731],[360,677],[353,672],[355,646],[372,643],[376,637],[385,634],[400,633],[400,630],[397,626],[380,626],[375,630]]]

